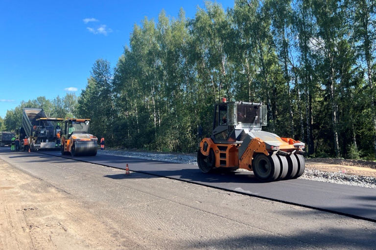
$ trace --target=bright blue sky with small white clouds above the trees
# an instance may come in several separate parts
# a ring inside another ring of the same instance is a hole
[[[193,18],[198,6],[204,1],[0,0],[0,116],[22,100],[79,96],[96,59],[116,65],[135,23],[162,9],[177,17],[181,7]]]

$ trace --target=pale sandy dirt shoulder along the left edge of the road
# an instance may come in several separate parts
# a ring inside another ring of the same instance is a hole
[[[0,250],[116,249],[95,222],[67,193],[0,160]]]

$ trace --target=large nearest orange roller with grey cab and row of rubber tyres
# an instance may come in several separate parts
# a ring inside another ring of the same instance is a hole
[[[305,171],[305,144],[262,131],[267,107],[262,103],[226,102],[214,105],[211,137],[199,143],[197,163],[213,170],[253,171],[262,182],[294,179]]]

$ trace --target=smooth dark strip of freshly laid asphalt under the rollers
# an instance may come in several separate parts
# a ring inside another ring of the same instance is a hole
[[[0,152],[3,153],[4,151],[1,150]],[[186,181],[376,222],[376,189],[374,188],[302,179],[261,183],[252,172],[245,171],[204,174],[196,165],[190,164],[102,154],[71,157],[61,155],[60,151],[40,151],[40,153],[120,169],[125,169],[126,164],[128,164],[130,171],[134,172]],[[128,175],[127,178],[132,178],[132,174]]]

